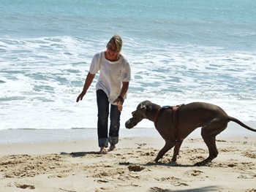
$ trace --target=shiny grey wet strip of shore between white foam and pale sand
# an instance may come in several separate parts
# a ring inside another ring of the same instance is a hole
[[[256,121],[244,122],[247,126],[256,129]],[[237,123],[230,122],[218,137],[249,137],[255,136],[256,133],[249,131]],[[151,128],[120,128],[119,138],[137,138],[137,137],[156,137],[162,138],[157,130]],[[200,128],[197,128],[189,137],[200,138]],[[97,128],[69,128],[69,129],[3,129],[0,130],[0,145],[23,144],[23,143],[45,143],[45,142],[64,142],[80,141],[87,139],[97,139]]]

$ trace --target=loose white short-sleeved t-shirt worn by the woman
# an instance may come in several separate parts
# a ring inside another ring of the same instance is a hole
[[[89,72],[91,74],[100,72],[96,90],[102,89],[107,94],[111,104],[119,96],[122,82],[131,80],[131,69],[127,58],[121,55],[118,61],[108,61],[105,58],[105,50],[94,55]],[[126,96],[124,96],[125,98]]]

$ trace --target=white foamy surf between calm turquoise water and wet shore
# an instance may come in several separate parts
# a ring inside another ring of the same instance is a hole
[[[124,40],[126,40],[124,38]],[[220,47],[151,47],[129,39],[123,52],[131,61],[132,81],[121,116],[124,121],[143,100],[160,105],[207,101],[241,120],[255,120],[254,53]],[[148,42],[149,43],[149,42]],[[1,129],[94,128],[97,126],[96,79],[83,101],[83,88],[94,47],[103,43],[72,37],[8,39],[1,66]],[[100,47],[102,45],[102,47]],[[137,51],[140,54],[135,54]],[[10,60],[12,58],[12,60]],[[17,122],[17,123],[14,123]],[[140,127],[153,127],[144,120]]]

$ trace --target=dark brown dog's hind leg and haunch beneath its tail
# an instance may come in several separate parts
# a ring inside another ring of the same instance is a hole
[[[218,150],[216,147],[216,136],[227,127],[227,122],[213,120],[208,126],[203,126],[201,135],[203,141],[208,147],[209,156],[205,160],[198,162],[195,166],[203,166],[210,163],[214,158],[217,158]]]

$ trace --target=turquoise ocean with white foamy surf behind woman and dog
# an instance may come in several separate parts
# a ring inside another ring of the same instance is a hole
[[[144,100],[162,106],[210,102],[244,123],[256,121],[254,0],[0,0],[0,9],[4,143],[21,138],[20,129],[53,131],[57,140],[96,138],[98,75],[83,101],[75,100],[91,58],[113,34],[123,38],[132,69],[121,137],[157,134],[149,120],[138,124],[139,131],[125,129]],[[40,134],[37,141],[48,137]]]

